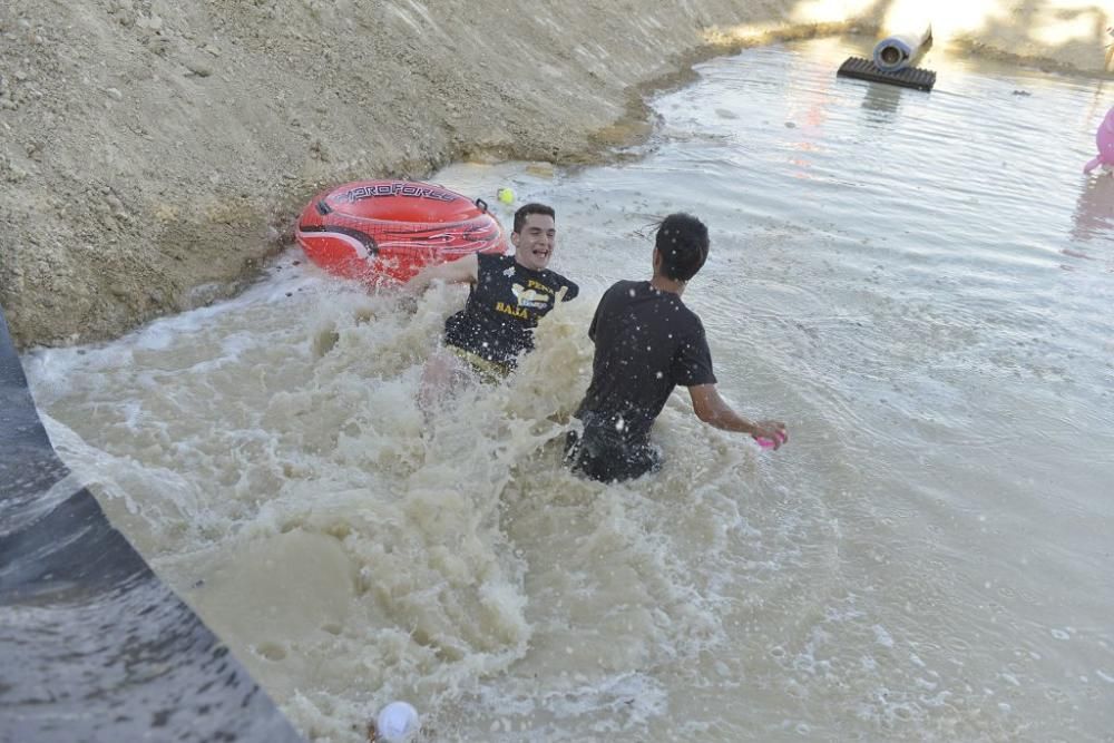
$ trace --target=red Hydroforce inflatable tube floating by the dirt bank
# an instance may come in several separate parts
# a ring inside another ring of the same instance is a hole
[[[377,284],[469,253],[506,253],[507,235],[480,199],[417,180],[358,180],[313,197],[294,231],[330,273]]]

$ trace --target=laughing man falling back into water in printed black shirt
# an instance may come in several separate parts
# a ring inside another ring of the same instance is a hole
[[[538,320],[577,295],[576,284],[546,267],[556,239],[553,207],[526,204],[515,212],[514,256],[472,253],[428,266],[407,283],[414,293],[433,281],[471,285],[465,309],[444,322],[443,351],[426,363],[418,398],[423,410],[469,370],[488,380],[506,377],[518,354],[534,349]]]

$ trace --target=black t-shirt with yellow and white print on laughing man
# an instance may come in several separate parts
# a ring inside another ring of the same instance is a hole
[[[579,289],[559,273],[532,271],[514,256],[479,253],[476,284],[465,309],[444,321],[444,341],[478,356],[514,364],[522,351],[534,349],[538,319],[554,309],[563,286],[565,301]]]

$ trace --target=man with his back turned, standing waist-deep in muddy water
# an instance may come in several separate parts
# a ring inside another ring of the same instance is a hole
[[[681,301],[707,251],[707,227],[688,214],[671,214],[657,225],[653,278],[620,281],[599,300],[588,329],[596,344],[592,383],[575,413],[584,428],[566,443],[574,470],[610,482],[659,469],[649,429],[677,384],[688,388],[705,423],[774,448],[789,440],[784,423],[751,422],[716,392],[704,325]]]

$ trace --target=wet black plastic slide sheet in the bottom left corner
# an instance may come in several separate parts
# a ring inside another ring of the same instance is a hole
[[[0,742],[302,740],[58,459],[0,310]]]

